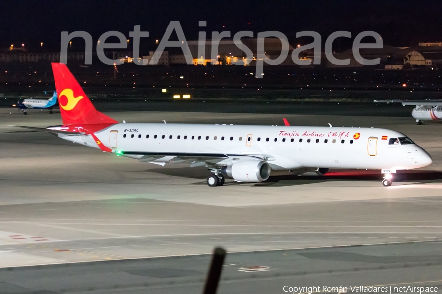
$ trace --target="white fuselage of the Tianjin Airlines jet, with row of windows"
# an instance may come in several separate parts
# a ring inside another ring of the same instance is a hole
[[[95,135],[112,152],[137,159],[157,156],[152,162],[163,163],[198,154],[227,155],[225,164],[241,156],[260,158],[273,170],[319,167],[395,171],[432,162],[416,144],[392,143],[393,138],[405,135],[377,128],[118,123]],[[91,135],[58,136],[99,147]]]

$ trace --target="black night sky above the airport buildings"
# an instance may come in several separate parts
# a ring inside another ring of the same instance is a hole
[[[212,31],[230,30],[233,36],[241,30],[255,34],[277,30],[295,44],[302,41],[296,40],[296,32],[313,30],[321,34],[324,44],[328,35],[337,30],[352,32],[352,38],[361,31],[373,30],[381,34],[384,44],[393,46],[442,41],[442,2],[436,0],[1,0],[0,3],[2,51],[11,44],[22,43],[30,51],[43,49],[39,48],[40,42],[44,42],[45,51],[58,51],[61,31],[85,30],[94,42],[110,30],[120,31],[129,38],[134,25],[150,32],[150,37],[142,40],[142,45],[148,46],[161,39],[172,20],[181,22],[187,40],[198,38],[198,21],[205,20],[208,37]],[[76,42],[78,47],[72,50],[84,50],[80,43]]]

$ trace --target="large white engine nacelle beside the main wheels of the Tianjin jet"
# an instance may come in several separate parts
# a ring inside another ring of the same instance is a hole
[[[237,182],[263,182],[270,176],[270,165],[264,160],[239,160],[227,166],[225,173]]]

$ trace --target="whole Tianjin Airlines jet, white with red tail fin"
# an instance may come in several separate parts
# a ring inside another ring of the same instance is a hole
[[[387,129],[119,123],[95,109],[66,65],[52,69],[63,125],[22,127],[140,162],[206,166],[211,187],[222,186],[225,175],[250,183],[267,180],[272,170],[323,175],[329,168],[377,169],[390,186],[397,170],[432,163],[406,135]]]

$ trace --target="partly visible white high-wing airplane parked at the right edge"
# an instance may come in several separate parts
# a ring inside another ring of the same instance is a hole
[[[423,121],[441,121],[442,120],[442,100],[374,100],[377,103],[402,103],[402,105],[416,106],[412,110],[412,116],[417,124]]]

